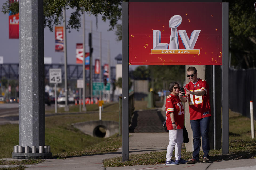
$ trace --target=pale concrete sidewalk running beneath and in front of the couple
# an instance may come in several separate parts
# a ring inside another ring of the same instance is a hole
[[[130,133],[129,137],[129,155],[142,154],[153,151],[165,151],[169,142],[168,133]],[[59,169],[83,169],[83,170],[140,170],[140,169],[175,169],[175,170],[254,170],[256,169],[256,159],[240,159],[218,161],[210,163],[197,164],[179,164],[170,165],[140,165],[140,166],[126,166],[126,167],[103,167],[103,160],[122,156],[122,149],[117,152],[78,156],[66,159],[47,159],[45,162],[33,165],[26,170],[59,170]]]

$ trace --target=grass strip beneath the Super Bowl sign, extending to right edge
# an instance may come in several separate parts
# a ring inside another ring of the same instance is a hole
[[[241,123],[243,122],[243,123]],[[251,124],[248,117],[242,116],[236,112],[229,112],[229,154],[222,155],[222,150],[210,150],[210,160],[232,160],[256,158],[256,139],[251,139]],[[256,121],[254,121],[256,126]],[[175,155],[175,151],[173,152]],[[186,152],[183,148],[181,151],[182,158],[188,160],[192,156],[192,152]],[[203,152],[200,151],[200,159],[202,161]],[[172,159],[175,159],[173,157]],[[165,152],[151,152],[147,154],[129,155],[129,161],[122,162],[122,157],[105,159],[103,164],[105,167],[131,166],[131,165],[148,165],[163,164],[166,161]]]

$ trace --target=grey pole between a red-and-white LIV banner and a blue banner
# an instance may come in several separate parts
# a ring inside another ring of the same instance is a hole
[[[86,90],[86,86],[85,86],[85,13],[84,13],[83,14],[83,111],[86,111],[85,90]]]

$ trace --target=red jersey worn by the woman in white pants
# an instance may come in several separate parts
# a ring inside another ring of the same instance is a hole
[[[184,107],[178,96],[170,94],[167,96],[165,101],[165,112],[166,112],[166,127],[167,130],[172,130],[172,121],[170,113],[174,113],[174,121],[177,125],[177,129],[183,129],[184,127]]]

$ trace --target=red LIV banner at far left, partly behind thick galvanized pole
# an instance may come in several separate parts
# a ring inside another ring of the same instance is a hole
[[[9,5],[17,0],[9,0]],[[19,39],[19,13],[11,15],[9,12],[9,39]]]

